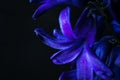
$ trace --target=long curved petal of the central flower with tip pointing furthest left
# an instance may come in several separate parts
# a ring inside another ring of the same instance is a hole
[[[55,49],[66,49],[70,47],[73,43],[68,40],[55,39],[48,35],[47,33],[45,33],[42,28],[35,29],[35,33],[40,37],[43,43]]]

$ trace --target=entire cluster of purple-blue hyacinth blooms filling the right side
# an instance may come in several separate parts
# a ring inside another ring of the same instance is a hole
[[[33,14],[33,19],[57,5],[81,7],[86,3],[90,4],[85,6],[73,27],[70,22],[70,7],[67,7],[60,12],[60,29],[55,28],[53,35],[46,33],[43,28],[35,29],[44,44],[58,49],[58,52],[50,57],[54,64],[72,63],[71,66],[74,66],[74,69],[63,72],[59,80],[120,80],[120,23],[111,8],[111,0],[29,1],[40,4]],[[111,23],[107,21],[108,16],[104,13],[103,4],[107,4]],[[106,26],[112,28],[115,35],[99,36]]]

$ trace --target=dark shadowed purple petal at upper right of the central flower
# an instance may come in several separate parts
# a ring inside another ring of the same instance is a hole
[[[88,13],[89,9],[85,8],[75,25],[74,32],[78,37],[85,37],[94,26],[94,20]]]

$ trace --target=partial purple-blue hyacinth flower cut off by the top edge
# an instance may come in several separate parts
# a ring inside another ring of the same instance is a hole
[[[33,14],[33,19],[36,19],[43,12],[58,6],[58,5],[73,5],[81,7],[85,5],[89,0],[29,0],[30,3],[40,4]]]

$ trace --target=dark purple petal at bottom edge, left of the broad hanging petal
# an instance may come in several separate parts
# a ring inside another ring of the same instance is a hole
[[[60,75],[59,80],[77,80],[76,79],[76,70],[63,72]]]

